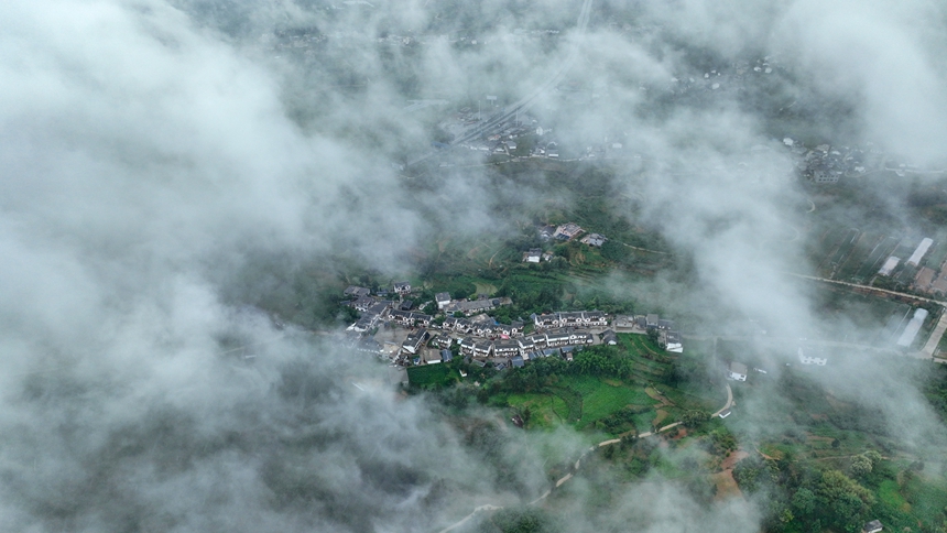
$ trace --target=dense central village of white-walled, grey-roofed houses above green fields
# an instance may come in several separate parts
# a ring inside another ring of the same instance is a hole
[[[392,293],[384,289],[374,295],[368,287],[346,289],[350,300],[344,304],[361,313],[347,329],[352,345],[399,367],[437,365],[464,357],[472,365],[497,370],[523,367],[544,357],[572,361],[574,353],[585,346],[617,345],[618,333],[653,335],[663,349],[684,351],[674,322],[656,314],[554,312],[501,324],[487,313],[510,305],[509,298],[454,300],[448,293],[437,293],[433,302],[437,312],[432,315],[412,311],[413,303],[406,298],[411,289],[407,282],[393,284]],[[390,294],[398,300],[383,300]]]

